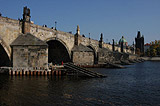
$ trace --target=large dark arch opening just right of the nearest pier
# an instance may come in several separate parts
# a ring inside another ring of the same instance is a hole
[[[61,64],[62,61],[71,62],[70,54],[63,43],[58,40],[49,40],[48,44],[48,63]]]

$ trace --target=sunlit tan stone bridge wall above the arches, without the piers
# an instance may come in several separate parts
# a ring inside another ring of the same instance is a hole
[[[55,44],[55,47],[57,47],[57,50],[65,49],[65,50],[61,50],[61,52],[68,53],[67,55],[69,55],[69,58],[71,58],[72,49],[75,45],[75,35],[67,33],[67,32],[63,32],[63,31],[55,30],[53,28],[35,25],[34,23],[30,21],[30,19],[27,22],[25,20],[26,17],[25,17],[25,13],[23,14],[24,19],[22,20],[15,20],[15,19],[10,19],[7,17],[0,16],[0,44],[1,44],[0,45],[1,46],[0,47],[1,49],[0,50],[0,53],[1,53],[0,61],[2,60],[11,61],[12,50],[11,50],[10,44],[20,34],[25,33],[25,32],[29,32],[33,34],[35,37],[48,43],[48,45],[50,43]],[[28,15],[28,17],[30,18],[30,14]],[[80,30],[77,29],[77,31],[79,33],[78,43],[91,48],[94,51],[94,54],[97,56],[97,53],[99,50],[99,41],[83,37],[80,35]],[[104,43],[103,39],[102,39],[102,46],[103,48],[106,48],[112,51],[112,45]],[[116,47],[116,46],[115,46],[115,50],[119,52],[121,51],[120,47]],[[129,49],[124,49],[124,52],[132,53],[132,51]],[[56,55],[58,54],[61,54],[61,53],[59,52]],[[63,54],[63,55],[66,55],[66,54]],[[1,64],[4,64],[4,63],[1,63]]]

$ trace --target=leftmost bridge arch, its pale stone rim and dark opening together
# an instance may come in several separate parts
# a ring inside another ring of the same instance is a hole
[[[11,52],[6,43],[0,38],[0,67],[11,66]]]

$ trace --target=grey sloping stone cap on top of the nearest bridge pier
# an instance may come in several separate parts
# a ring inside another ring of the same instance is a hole
[[[19,35],[11,46],[48,46],[48,44],[30,33]]]

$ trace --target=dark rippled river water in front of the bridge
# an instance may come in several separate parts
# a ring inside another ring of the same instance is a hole
[[[92,70],[108,77],[0,75],[0,106],[160,105],[160,62]]]

